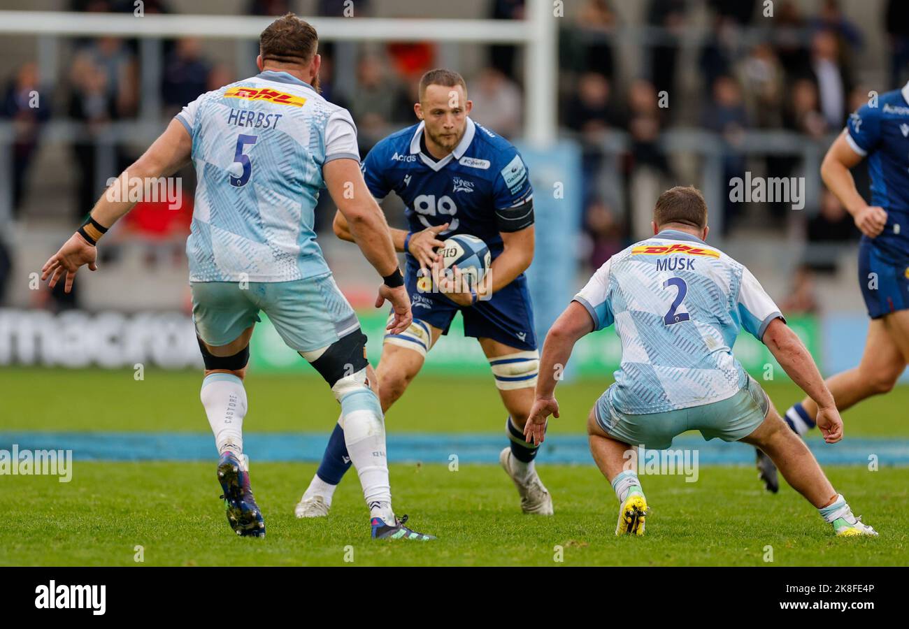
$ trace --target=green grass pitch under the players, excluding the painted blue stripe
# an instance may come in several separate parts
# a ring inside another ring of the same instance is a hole
[[[208,431],[198,401],[199,374],[149,371],[0,370],[3,430]],[[581,433],[604,383],[565,384],[562,418],[552,429]],[[778,408],[799,394],[766,388]],[[247,382],[249,432],[327,433],[337,405],[317,378]],[[464,405],[464,400],[469,404]],[[844,414],[846,437],[909,435],[909,388]],[[491,380],[420,376],[389,412],[389,431],[499,434],[504,411]],[[784,485],[765,494],[751,467],[701,466],[684,476],[642,478],[652,514],[641,539],[615,538],[617,503],[589,465],[540,464],[554,496],[552,518],[520,513],[511,481],[497,465],[393,464],[395,510],[425,544],[374,542],[354,474],[335,494],[329,518],[296,520],[295,502],[315,464],[252,463],[265,514],[265,539],[239,539],[217,496],[215,461],[77,462],[73,481],[2,476],[5,526],[0,564],[135,565],[905,565],[909,563],[909,468],[828,467],[834,486],[877,539],[837,539],[804,499]],[[773,561],[766,558],[772,554]],[[558,561],[561,559],[562,561]],[[345,561],[352,560],[352,561]]]

